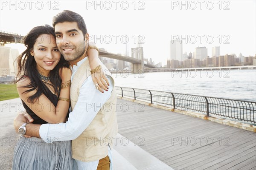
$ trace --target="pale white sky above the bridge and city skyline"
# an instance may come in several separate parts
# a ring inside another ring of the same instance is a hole
[[[125,54],[127,47],[131,56],[131,48],[142,46],[155,64],[166,64],[170,41],[178,37],[187,54],[204,46],[209,57],[214,46],[221,55],[256,54],[256,0],[1,0],[0,8],[0,30],[22,35],[51,25],[63,10],[77,12],[99,48]]]

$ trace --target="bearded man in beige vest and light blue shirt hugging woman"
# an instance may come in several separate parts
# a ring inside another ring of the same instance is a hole
[[[26,135],[42,138],[72,140],[73,158],[79,169],[110,169],[112,137],[118,131],[116,120],[116,92],[114,80],[107,77],[109,89],[99,92],[87,70],[90,69],[86,48],[89,34],[84,19],[73,11],[62,11],[53,18],[59,51],[73,71],[70,88],[71,112],[66,123],[26,125]],[[102,64],[103,69],[106,69]],[[97,85],[96,85],[97,87]],[[30,119],[26,114],[27,119]],[[14,126],[17,130],[26,119],[19,114]]]

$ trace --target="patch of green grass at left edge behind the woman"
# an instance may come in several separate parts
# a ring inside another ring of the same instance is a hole
[[[0,101],[19,97],[16,84],[0,84]]]

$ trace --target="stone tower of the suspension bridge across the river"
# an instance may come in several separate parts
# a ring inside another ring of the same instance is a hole
[[[133,63],[131,70],[134,73],[144,73],[143,47],[131,48],[131,57],[140,59],[140,63]]]

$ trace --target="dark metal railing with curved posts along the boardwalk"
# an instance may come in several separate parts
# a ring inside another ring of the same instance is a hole
[[[217,97],[178,94],[116,86],[117,94],[135,100],[172,107],[182,111],[198,111],[207,116],[218,115],[245,122],[256,123],[256,102]]]

